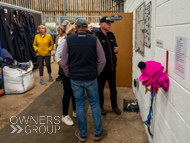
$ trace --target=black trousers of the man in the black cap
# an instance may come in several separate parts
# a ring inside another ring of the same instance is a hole
[[[103,70],[102,73],[98,76],[98,90],[99,90],[99,101],[100,107],[104,105],[104,86],[108,81],[110,88],[110,99],[112,108],[117,107],[117,90],[116,90],[116,71],[112,70]]]

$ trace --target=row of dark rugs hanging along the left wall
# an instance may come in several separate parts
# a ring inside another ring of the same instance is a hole
[[[2,54],[7,64],[17,62],[37,63],[33,41],[36,35],[36,25],[32,14],[23,11],[11,11],[11,25],[6,22],[5,11],[0,8],[0,41],[1,48],[8,54]],[[10,56],[10,55],[11,56]],[[8,56],[9,55],[9,56]]]

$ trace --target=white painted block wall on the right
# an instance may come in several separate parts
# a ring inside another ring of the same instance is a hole
[[[152,1],[151,48],[145,47],[141,56],[133,50],[133,79],[141,74],[139,61],[155,60],[166,66],[166,51],[169,51],[168,92],[160,90],[155,97],[150,143],[190,143],[190,0],[127,0],[125,12],[133,12],[133,48],[135,48],[135,10],[145,2]],[[187,37],[185,79],[174,73],[176,36]],[[156,46],[156,39],[163,41],[163,48]],[[140,83],[134,88],[139,101],[142,120],[148,115],[150,93]],[[148,132],[147,132],[148,134]]]

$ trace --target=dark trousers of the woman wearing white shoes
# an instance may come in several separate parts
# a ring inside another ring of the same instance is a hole
[[[75,97],[73,94],[73,90],[71,88],[71,81],[70,78],[67,76],[61,75],[61,79],[63,81],[63,89],[64,89],[64,95],[63,95],[63,115],[68,115],[69,110],[69,102],[70,98],[72,97],[72,103],[73,103],[73,110],[76,111],[76,103],[75,103]]]

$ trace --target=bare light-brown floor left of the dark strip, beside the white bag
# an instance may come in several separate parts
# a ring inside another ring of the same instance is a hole
[[[58,65],[52,63],[52,76],[55,79],[58,76]],[[30,105],[39,95],[41,95],[53,82],[48,81],[47,69],[44,67],[44,85],[40,85],[39,70],[33,71],[35,87],[25,94],[14,94],[0,96],[0,130],[10,121],[11,116],[20,114],[28,105]]]

